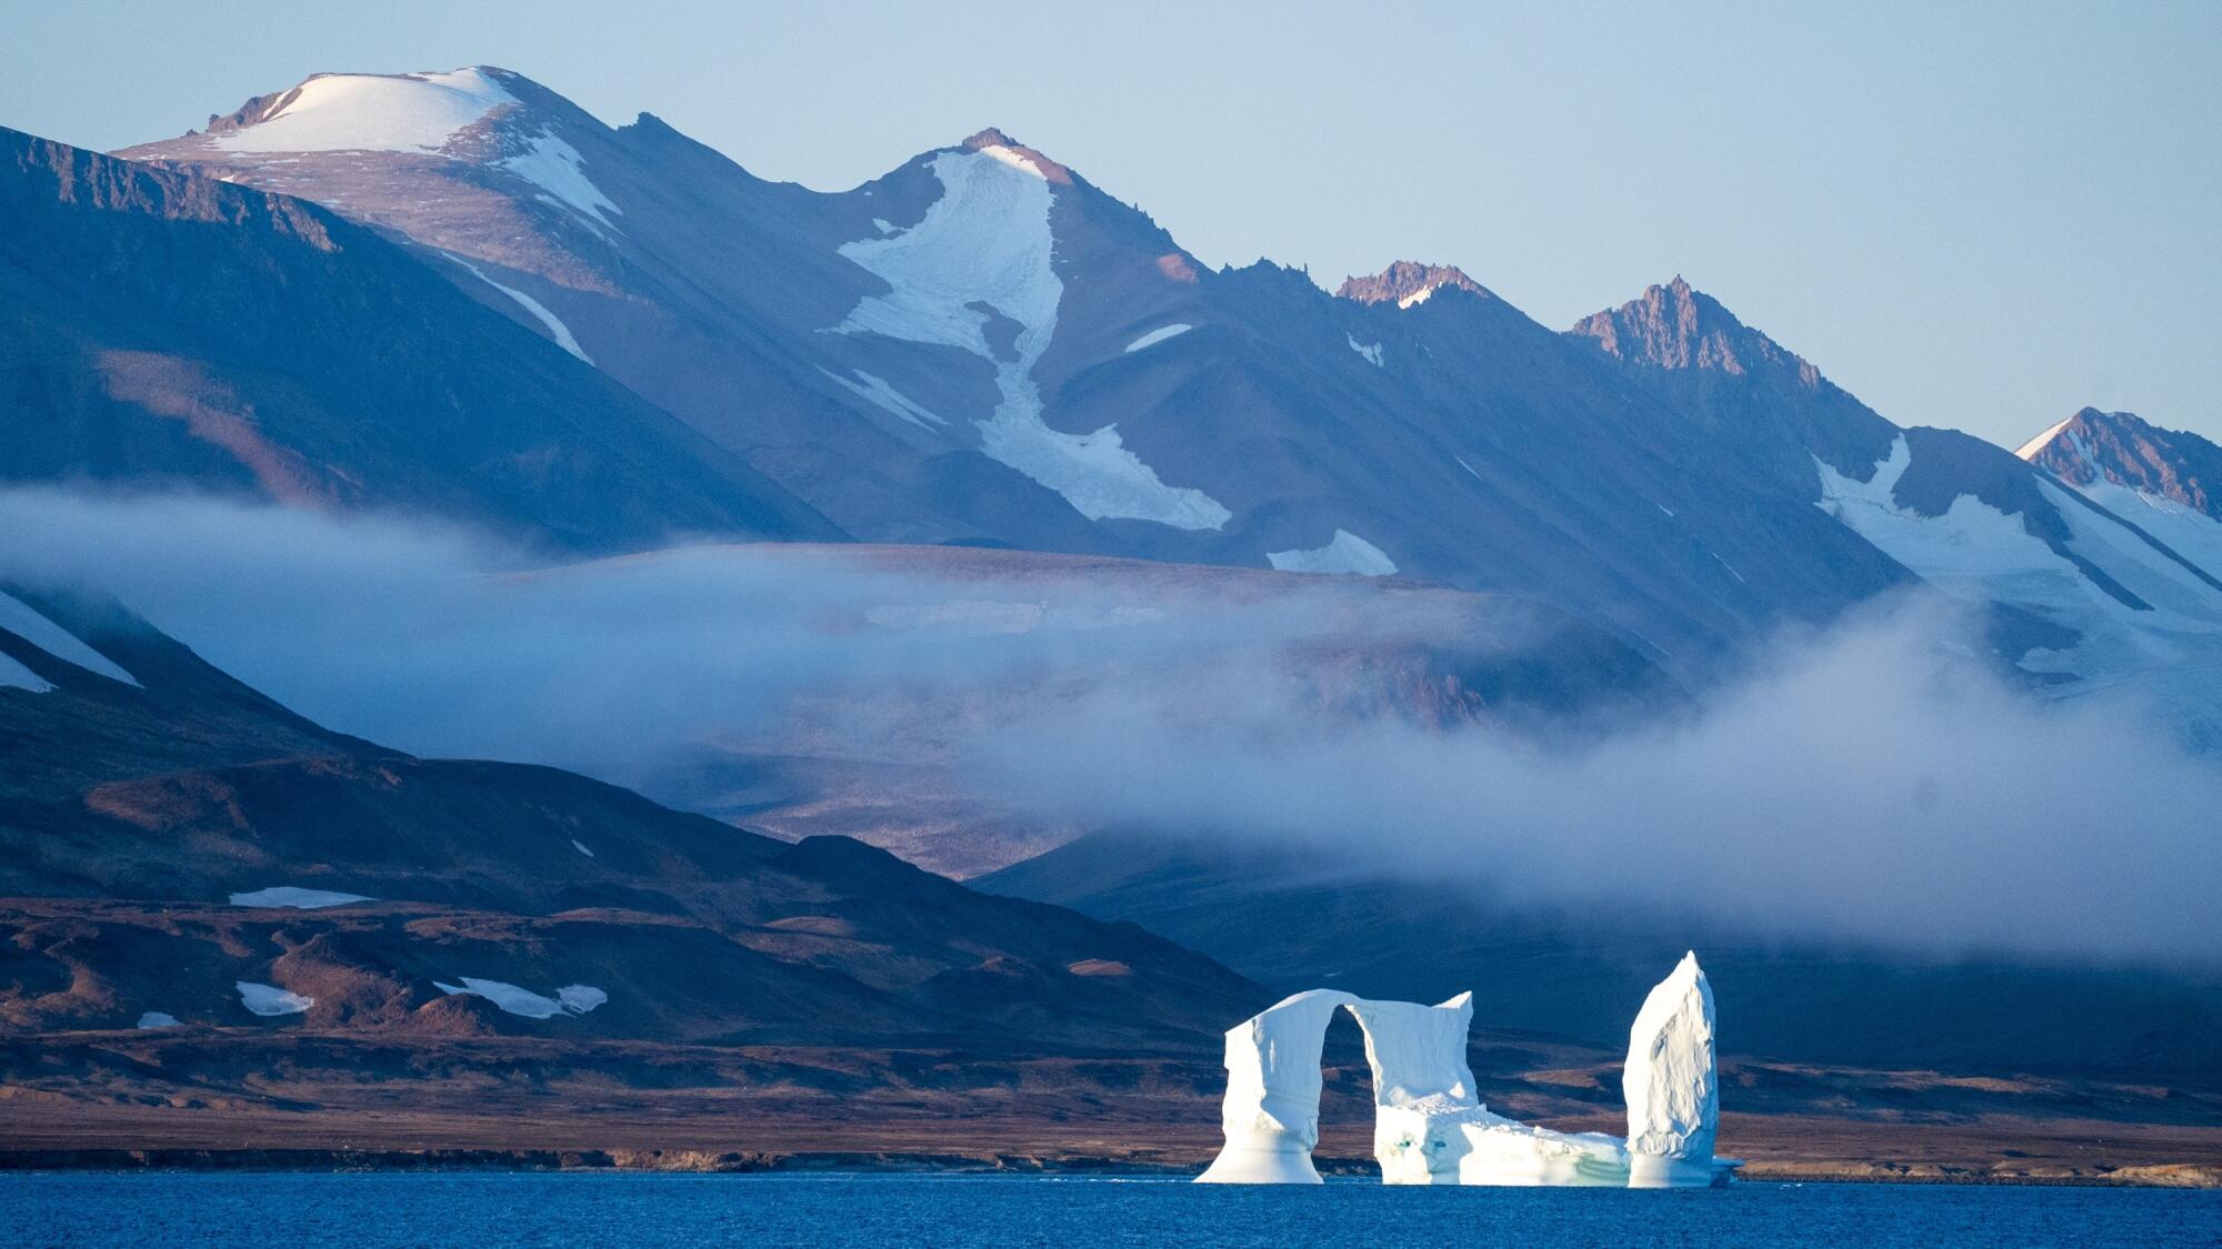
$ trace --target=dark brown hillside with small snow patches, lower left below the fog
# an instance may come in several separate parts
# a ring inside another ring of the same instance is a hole
[[[0,1033],[158,1013],[1040,1058],[1209,1053],[1262,1005],[1131,925],[847,838],[329,733],[93,593],[7,587],[0,665]]]

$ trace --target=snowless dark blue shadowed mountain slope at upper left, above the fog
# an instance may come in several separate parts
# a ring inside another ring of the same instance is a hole
[[[0,480],[409,509],[558,549],[838,538],[340,216],[0,131]]]

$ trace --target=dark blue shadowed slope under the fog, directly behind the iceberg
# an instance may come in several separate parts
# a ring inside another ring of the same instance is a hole
[[[980,889],[1131,920],[1275,991],[1329,985],[1427,998],[1444,985],[1509,1025],[1611,1047],[1618,1002],[1698,947],[1722,989],[1722,1045],[1793,1062],[2204,1078],[2222,1045],[2222,976],[1931,958],[1693,925],[1675,913],[1562,911],[1444,880],[1367,878],[1264,842],[1102,829],[982,876]],[[1302,940],[1291,940],[1302,933]]]

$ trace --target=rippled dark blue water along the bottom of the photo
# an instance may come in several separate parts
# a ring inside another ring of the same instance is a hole
[[[0,1245],[2222,1245],[2222,1193],[1018,1176],[0,1176]]]

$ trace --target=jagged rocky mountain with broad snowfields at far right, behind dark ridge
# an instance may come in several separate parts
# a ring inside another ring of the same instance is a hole
[[[1742,444],[1749,464],[1804,478],[1826,516],[1926,584],[1986,611],[2009,671],[2060,696],[2142,691],[2186,742],[2222,745],[2222,682],[2209,676],[2222,662],[2222,547],[2204,513],[2180,516],[2162,493],[2166,507],[2149,504],[2080,467],[2082,416],[2046,433],[2051,451],[2035,451],[2040,438],[2022,458],[1953,429],[1900,429],[1682,280],[1571,333],[1684,422]],[[2175,447],[2195,453],[2191,442]],[[2169,489],[2122,464],[2122,480]]]

